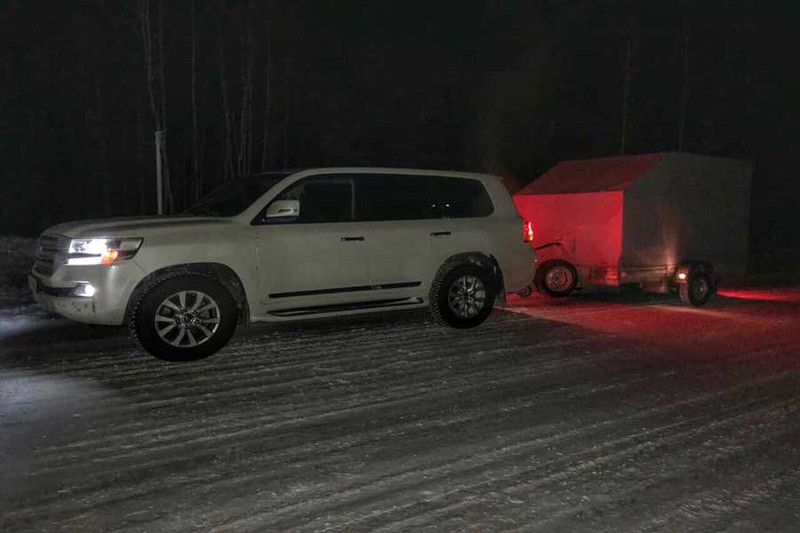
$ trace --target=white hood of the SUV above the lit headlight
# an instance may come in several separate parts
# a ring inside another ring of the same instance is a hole
[[[156,215],[77,220],[53,226],[43,233],[65,235],[72,238],[143,237],[147,234],[160,233],[176,227],[224,226],[228,224],[230,224],[228,219],[219,217]]]

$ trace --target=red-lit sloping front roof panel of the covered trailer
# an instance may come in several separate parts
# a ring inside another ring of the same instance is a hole
[[[666,153],[562,161],[517,194],[622,191],[650,171]]]

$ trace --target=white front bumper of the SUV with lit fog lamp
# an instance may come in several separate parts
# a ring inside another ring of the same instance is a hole
[[[122,325],[128,300],[144,271],[132,260],[114,265],[62,266],[51,276],[28,274],[28,286],[46,311],[86,324]],[[91,283],[91,297],[75,296],[74,289]]]

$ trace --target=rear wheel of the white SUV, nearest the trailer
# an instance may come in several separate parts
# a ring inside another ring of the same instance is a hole
[[[474,264],[443,269],[431,286],[433,319],[458,329],[474,328],[491,314],[497,288],[494,276]]]

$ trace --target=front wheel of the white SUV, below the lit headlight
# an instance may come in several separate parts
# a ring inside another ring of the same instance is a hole
[[[134,304],[133,338],[165,361],[194,361],[220,350],[236,329],[236,302],[225,287],[201,275],[165,278]]]

